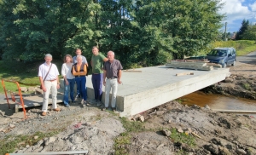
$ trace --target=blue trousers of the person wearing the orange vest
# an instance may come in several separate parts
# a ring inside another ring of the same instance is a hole
[[[81,95],[84,100],[87,100],[87,89],[85,87],[86,84],[86,78],[85,76],[82,77],[75,77],[76,83],[77,83],[77,95]]]

